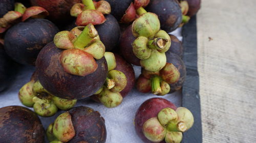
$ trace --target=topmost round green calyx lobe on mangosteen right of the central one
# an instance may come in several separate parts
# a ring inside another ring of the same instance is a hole
[[[147,21],[147,22],[145,22]],[[137,18],[132,24],[132,32],[134,37],[154,37],[160,30],[160,21],[154,13],[147,12]]]

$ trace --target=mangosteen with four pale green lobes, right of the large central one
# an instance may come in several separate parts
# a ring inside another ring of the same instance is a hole
[[[165,52],[170,47],[170,37],[160,30],[156,14],[146,12],[142,7],[137,12],[140,17],[122,34],[120,51],[125,60],[132,64],[140,65],[147,71],[159,71],[166,64]]]

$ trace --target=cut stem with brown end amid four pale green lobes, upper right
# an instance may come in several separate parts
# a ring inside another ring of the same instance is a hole
[[[148,40],[147,46],[151,49],[163,49],[167,43],[167,40],[163,38],[155,38],[153,40]]]

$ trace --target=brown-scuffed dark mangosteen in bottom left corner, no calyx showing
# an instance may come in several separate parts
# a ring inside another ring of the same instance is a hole
[[[22,106],[0,108],[1,142],[43,143],[44,128],[36,114]]]

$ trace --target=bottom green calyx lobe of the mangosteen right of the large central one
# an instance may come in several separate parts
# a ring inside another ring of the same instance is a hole
[[[161,70],[166,64],[165,53],[161,53],[157,50],[152,50],[150,58],[146,60],[140,60],[140,65],[147,71],[156,72]]]

